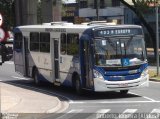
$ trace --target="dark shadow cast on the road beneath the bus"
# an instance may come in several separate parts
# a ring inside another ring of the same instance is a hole
[[[16,87],[24,88],[31,91],[36,91],[39,93],[43,93],[50,96],[57,96],[61,101],[81,101],[81,100],[100,100],[100,99],[129,99],[141,97],[134,94],[126,94],[122,95],[119,92],[91,92],[85,91],[82,96],[76,94],[76,92],[72,88],[68,87],[57,87],[53,86],[51,83],[43,83],[41,86],[36,86],[33,83],[33,80],[13,80],[6,81],[4,83],[14,85]]]

